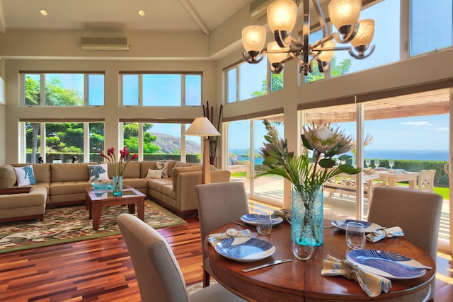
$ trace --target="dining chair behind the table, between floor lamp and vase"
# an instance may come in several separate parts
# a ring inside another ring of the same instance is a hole
[[[248,214],[248,197],[243,182],[217,182],[195,186],[203,257],[203,286],[210,285],[210,268],[205,238],[214,228]]]

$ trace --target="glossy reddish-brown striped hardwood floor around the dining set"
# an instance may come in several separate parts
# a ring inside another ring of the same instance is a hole
[[[200,227],[159,229],[168,240],[186,284],[202,281]],[[435,301],[453,301],[451,256],[438,253]],[[122,236],[0,255],[0,301],[140,301]]]

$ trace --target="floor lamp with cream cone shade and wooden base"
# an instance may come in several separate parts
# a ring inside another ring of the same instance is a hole
[[[197,117],[190,127],[185,130],[184,135],[193,135],[202,137],[203,140],[203,160],[202,160],[202,173],[201,183],[211,183],[210,173],[210,142],[209,137],[218,137],[220,134],[211,124],[207,117]]]

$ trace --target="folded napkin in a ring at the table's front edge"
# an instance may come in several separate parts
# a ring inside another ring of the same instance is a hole
[[[323,276],[345,276],[348,279],[359,282],[365,294],[370,297],[379,296],[382,291],[386,293],[391,288],[391,281],[377,274],[365,272],[348,260],[339,260],[332,256],[327,256],[323,260]]]

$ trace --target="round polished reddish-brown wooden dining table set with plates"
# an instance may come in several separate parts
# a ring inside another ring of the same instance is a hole
[[[270,236],[260,236],[256,231],[252,231],[253,238],[268,237],[276,248],[272,256],[255,262],[226,259],[206,240],[205,250],[213,277],[226,289],[248,301],[421,301],[428,295],[430,283],[435,279],[435,262],[427,252],[401,237],[386,238],[377,243],[367,242],[365,248],[396,252],[432,267],[422,277],[391,280],[388,293],[370,298],[356,281],[343,276],[321,276],[323,260],[327,255],[345,259],[348,250],[345,232],[331,228],[331,221],[325,221],[325,226],[327,228],[324,228],[324,243],[315,248],[308,261],[297,260],[292,255],[291,226],[286,221],[274,226]],[[211,233],[222,233],[227,228],[245,229],[235,223],[227,223]],[[247,267],[285,258],[291,258],[292,261],[252,272],[242,272],[242,269]]]

